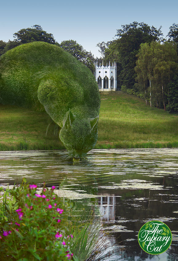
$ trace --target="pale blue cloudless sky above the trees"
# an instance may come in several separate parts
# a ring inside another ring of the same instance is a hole
[[[41,25],[57,42],[75,40],[95,57],[101,56],[97,43],[116,39],[121,25],[161,25],[166,37],[169,27],[178,24],[177,0],[9,0],[1,2],[0,9],[0,40],[12,41],[20,29]]]

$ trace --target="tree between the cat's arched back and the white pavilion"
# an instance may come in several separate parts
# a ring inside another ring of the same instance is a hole
[[[82,45],[79,45],[74,40],[62,41],[61,44],[56,43],[56,45],[63,48],[66,52],[72,54],[80,62],[85,64],[92,72],[94,72],[94,56],[91,52],[87,52],[83,49]]]

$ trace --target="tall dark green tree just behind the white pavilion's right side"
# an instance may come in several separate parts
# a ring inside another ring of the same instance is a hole
[[[161,27],[156,29],[143,22],[133,22],[122,25],[122,29],[118,29],[115,36],[118,38],[109,42],[108,48],[105,48],[105,59],[115,58],[114,60],[121,64],[121,72],[119,73],[121,84],[126,85],[126,88],[134,88],[136,78],[134,67],[140,44],[161,41]],[[101,47],[103,46],[104,44],[101,45]],[[117,67],[119,67],[118,64]]]

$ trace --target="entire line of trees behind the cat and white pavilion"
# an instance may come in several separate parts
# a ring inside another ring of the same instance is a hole
[[[94,58],[74,40],[55,41],[40,25],[14,33],[14,41],[0,41],[0,55],[31,41],[45,41],[71,53],[92,72],[94,61],[117,63],[117,87],[144,99],[146,105],[178,113],[178,24],[169,28],[164,39],[161,26],[156,29],[134,21],[117,29],[113,41],[98,43],[100,58]]]

